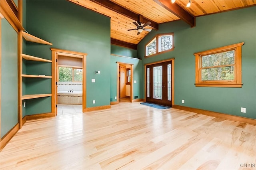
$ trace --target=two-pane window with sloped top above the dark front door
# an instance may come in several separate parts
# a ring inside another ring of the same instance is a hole
[[[146,45],[146,57],[173,50],[174,34],[158,34]]]

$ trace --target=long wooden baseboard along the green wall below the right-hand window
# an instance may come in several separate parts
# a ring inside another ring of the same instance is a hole
[[[172,108],[256,126],[256,119],[250,119],[250,118],[234,116],[234,115],[227,115],[224,113],[206,111],[202,109],[196,109],[196,108],[180,106],[180,105],[172,105]]]

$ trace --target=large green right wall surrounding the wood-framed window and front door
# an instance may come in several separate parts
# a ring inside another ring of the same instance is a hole
[[[142,65],[175,57],[174,103],[256,119],[256,7],[196,18],[196,27],[182,21],[160,24],[138,44]],[[174,51],[144,59],[144,46],[156,34],[174,32]],[[244,42],[242,88],[195,87],[194,53]],[[142,72],[142,78],[144,71]],[[142,89],[144,82],[142,83]],[[142,90],[144,96],[144,90]],[[182,104],[181,100],[185,103]],[[246,113],[241,113],[246,107]]]

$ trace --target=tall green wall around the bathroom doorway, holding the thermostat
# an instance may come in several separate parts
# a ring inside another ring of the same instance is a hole
[[[49,46],[27,42],[26,52],[46,59],[51,59],[50,47],[88,53],[86,107],[110,105],[110,18],[59,0],[27,1],[26,10],[27,31],[53,43]],[[32,71],[32,67],[26,65],[26,71]],[[46,73],[48,69],[41,65],[38,71]],[[100,70],[100,75],[95,74],[96,70]],[[96,83],[91,83],[91,79],[96,79]],[[38,85],[39,91],[45,88],[43,84]],[[33,109],[40,111],[36,107],[30,110]]]

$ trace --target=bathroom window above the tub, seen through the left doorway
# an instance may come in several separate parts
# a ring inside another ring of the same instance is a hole
[[[82,82],[83,69],[74,67],[59,66],[59,81],[60,82]]]

